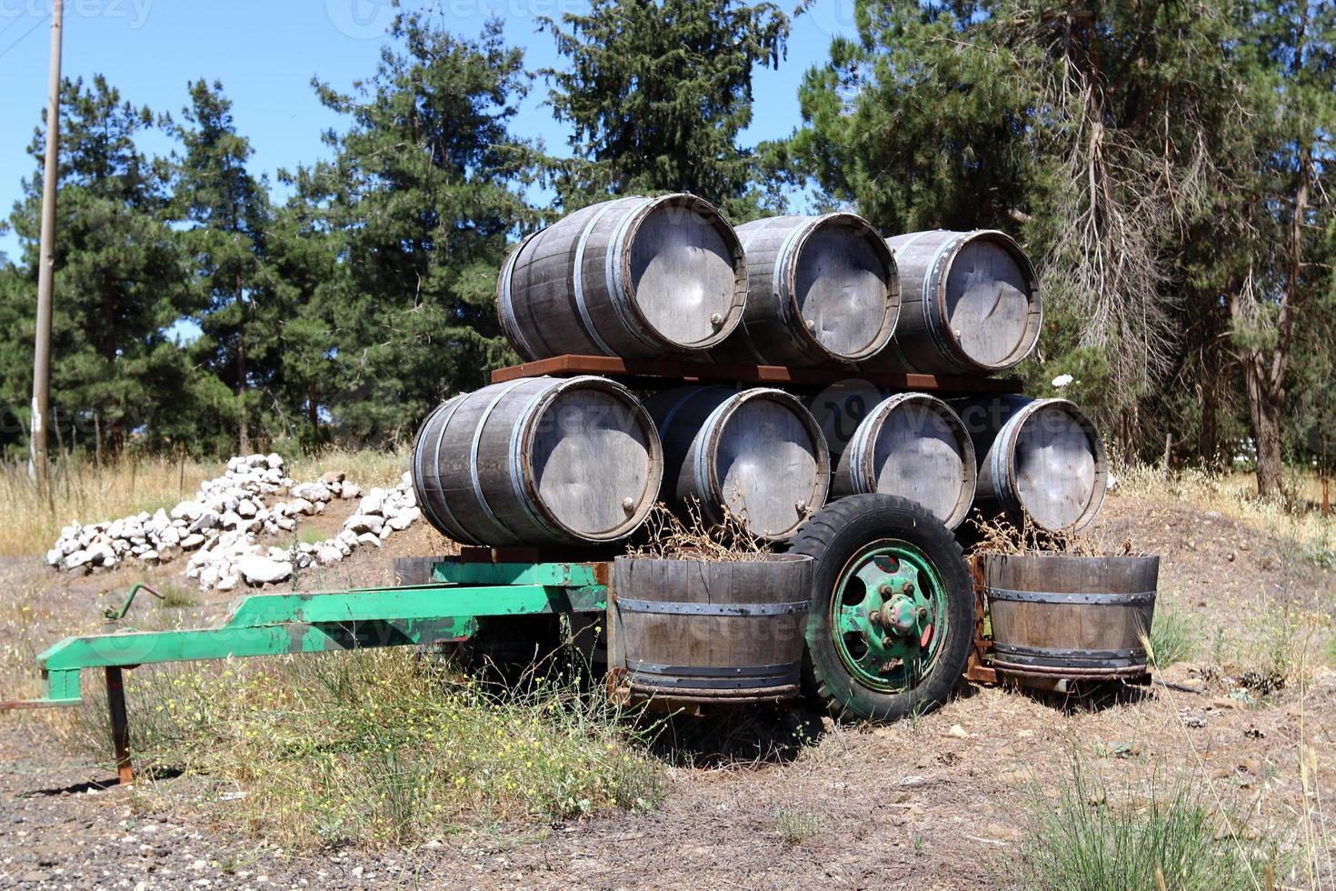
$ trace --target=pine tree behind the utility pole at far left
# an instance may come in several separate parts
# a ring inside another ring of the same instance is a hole
[[[179,394],[191,374],[167,329],[188,311],[184,269],[168,226],[166,170],[135,146],[154,127],[102,76],[61,85],[61,140],[52,311],[51,430],[57,449],[100,456],[188,429]],[[0,347],[15,359],[3,399],[28,422],[36,306],[43,131],[29,154],[37,174],[11,223],[23,244],[23,283],[0,289],[9,323]],[[25,367],[24,367],[25,366]],[[8,370],[8,369],[7,369]]]

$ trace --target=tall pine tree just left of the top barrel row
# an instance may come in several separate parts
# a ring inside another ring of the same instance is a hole
[[[354,95],[317,84],[351,122],[335,160],[298,175],[339,258],[322,406],[341,435],[374,441],[411,435],[445,394],[513,361],[496,275],[508,234],[534,220],[518,188],[537,160],[508,132],[525,73],[500,23],[474,41],[402,13],[390,39]]]

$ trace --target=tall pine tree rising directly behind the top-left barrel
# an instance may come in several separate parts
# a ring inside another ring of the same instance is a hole
[[[569,60],[544,73],[572,124],[558,164],[566,208],[613,194],[689,191],[755,216],[755,160],[737,135],[752,118],[752,71],[778,65],[788,19],[772,3],[593,0],[541,19]]]

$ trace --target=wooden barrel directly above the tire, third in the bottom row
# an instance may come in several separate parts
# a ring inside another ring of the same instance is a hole
[[[978,464],[955,411],[926,393],[896,393],[871,402],[864,415],[843,443],[832,438],[835,425],[822,425],[823,433],[831,427],[831,494],[900,496],[927,508],[947,529],[961,525],[974,501]]]

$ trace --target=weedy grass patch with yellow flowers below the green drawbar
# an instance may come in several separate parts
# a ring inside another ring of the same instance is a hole
[[[566,675],[502,688],[406,651],[140,669],[134,756],[230,789],[228,823],[289,848],[414,846],[496,820],[647,810],[661,767]],[[596,691],[597,692],[597,691]],[[106,757],[104,708],[67,743]]]

